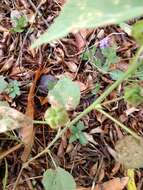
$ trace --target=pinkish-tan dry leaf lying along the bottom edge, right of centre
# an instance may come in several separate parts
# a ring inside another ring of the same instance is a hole
[[[103,184],[98,184],[95,186],[93,190],[123,190],[124,187],[128,183],[128,177],[123,178],[114,178],[112,180],[109,180]],[[76,190],[91,190],[91,187],[84,188],[84,187],[78,187]]]

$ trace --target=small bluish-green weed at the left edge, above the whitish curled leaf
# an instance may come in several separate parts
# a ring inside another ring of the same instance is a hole
[[[19,82],[13,80],[8,83],[5,81],[5,77],[0,76],[0,93],[6,93],[11,98],[15,98],[20,95]]]

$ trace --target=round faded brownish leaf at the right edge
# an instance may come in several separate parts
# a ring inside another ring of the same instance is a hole
[[[127,168],[143,167],[143,139],[125,136],[115,146],[117,160]]]

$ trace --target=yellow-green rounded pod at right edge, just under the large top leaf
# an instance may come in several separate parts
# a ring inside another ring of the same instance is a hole
[[[132,36],[140,45],[143,44],[143,20],[140,20],[133,25]]]

